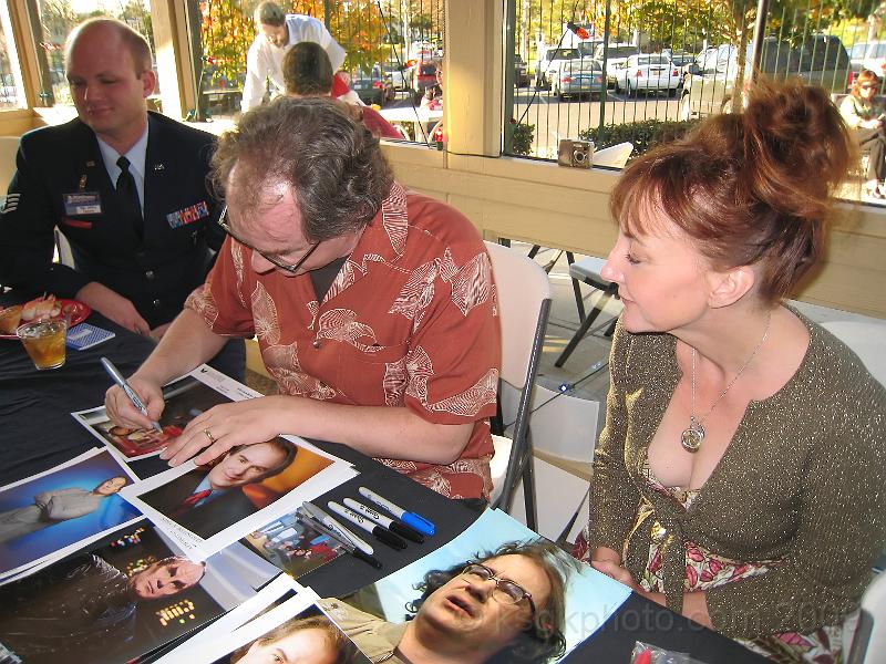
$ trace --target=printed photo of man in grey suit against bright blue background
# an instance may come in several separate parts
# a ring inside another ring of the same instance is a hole
[[[117,494],[133,483],[106,449],[0,489],[0,574],[141,517]]]

